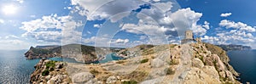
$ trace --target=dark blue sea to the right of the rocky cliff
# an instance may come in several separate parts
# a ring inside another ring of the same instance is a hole
[[[230,64],[241,73],[241,82],[256,84],[256,50],[230,51]]]

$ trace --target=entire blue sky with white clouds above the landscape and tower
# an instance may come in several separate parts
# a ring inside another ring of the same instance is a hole
[[[129,48],[180,43],[256,48],[253,0],[0,0],[0,49],[81,43]]]

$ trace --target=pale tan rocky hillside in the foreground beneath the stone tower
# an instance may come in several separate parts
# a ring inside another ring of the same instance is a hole
[[[182,45],[141,45],[126,48],[119,55],[127,59],[105,64],[61,63],[60,75],[66,75],[60,82],[74,84],[221,84],[233,83],[236,70],[228,63],[225,51],[207,43]],[[56,68],[49,75],[42,75],[47,69],[47,60],[40,61],[32,74],[31,82],[50,82],[59,75]],[[55,66],[58,66],[55,64]],[[43,67],[43,68],[42,68]],[[67,78],[68,76],[68,78]],[[62,77],[61,77],[62,78]]]

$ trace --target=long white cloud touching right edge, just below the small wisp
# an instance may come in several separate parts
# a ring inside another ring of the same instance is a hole
[[[233,28],[233,29],[238,29],[240,31],[248,31],[248,32],[256,31],[255,26],[250,26],[250,25],[244,24],[242,22],[236,23],[231,20],[221,20],[218,25],[225,27],[227,29]]]

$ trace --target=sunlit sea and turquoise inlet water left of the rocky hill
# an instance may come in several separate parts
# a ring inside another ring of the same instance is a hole
[[[26,50],[20,51],[0,51],[0,84],[26,84],[29,83],[30,75],[34,65],[38,64],[40,59],[26,60],[24,57]],[[114,53],[106,56],[106,59],[96,63],[106,63],[112,60],[121,59]],[[52,58],[56,61],[65,61],[70,63],[79,63],[74,59]]]

